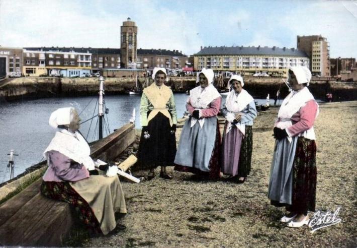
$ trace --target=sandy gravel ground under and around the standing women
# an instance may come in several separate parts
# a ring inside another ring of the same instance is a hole
[[[172,171],[139,184],[122,180],[128,214],[125,230],[83,240],[97,247],[356,247],[357,102],[325,103],[315,123],[317,136],[317,210],[341,207],[342,222],[315,233],[279,222],[283,208],[267,199],[278,109],[259,114],[253,126],[252,170],[243,184],[195,180]],[[223,128],[223,125],[221,126]],[[180,134],[180,130],[176,135]],[[178,140],[177,140],[178,142]],[[137,171],[136,175],[146,175]],[[311,216],[311,213],[310,213]]]

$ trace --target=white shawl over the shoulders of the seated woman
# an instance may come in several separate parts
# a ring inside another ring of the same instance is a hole
[[[91,149],[78,132],[73,134],[65,129],[56,132],[51,143],[43,152],[43,156],[46,157],[47,162],[49,162],[48,152],[51,150],[60,152],[75,162],[83,164],[88,170],[95,169],[95,163],[90,157]]]

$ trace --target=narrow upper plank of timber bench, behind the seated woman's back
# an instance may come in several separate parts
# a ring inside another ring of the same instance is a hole
[[[21,194],[17,194],[11,200],[0,206],[0,228],[8,219],[16,214],[28,201],[40,192],[42,178],[29,185]]]

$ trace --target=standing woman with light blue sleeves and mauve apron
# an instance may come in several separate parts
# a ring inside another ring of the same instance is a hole
[[[221,110],[226,117],[222,139],[221,171],[230,175],[237,183],[243,183],[250,173],[253,150],[251,126],[256,117],[253,97],[244,90],[243,78],[233,75],[228,84],[232,90]]]

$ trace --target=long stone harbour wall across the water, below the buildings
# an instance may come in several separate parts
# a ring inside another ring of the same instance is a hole
[[[172,77],[167,82],[176,93],[184,93],[196,86],[195,77]],[[228,79],[224,80],[227,84]],[[138,84],[146,87],[151,78],[139,78]],[[107,95],[128,94],[136,86],[135,78],[105,78]],[[269,93],[273,99],[280,89],[281,97],[288,94],[283,78],[245,77],[244,89],[256,98],[265,98]],[[334,101],[357,100],[357,82],[335,82],[312,80],[310,91],[318,99],[332,93]],[[0,99],[13,101],[28,98],[91,96],[97,95],[99,78],[15,78],[0,85]]]

